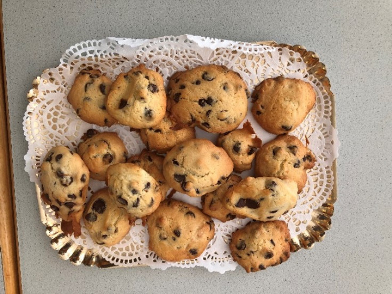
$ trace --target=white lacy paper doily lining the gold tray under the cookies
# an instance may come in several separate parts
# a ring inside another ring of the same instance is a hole
[[[331,124],[331,98],[323,84],[306,71],[306,64],[299,53],[287,48],[261,46],[256,44],[218,40],[191,35],[162,37],[152,40],[106,38],[85,41],[67,49],[60,59],[60,65],[46,70],[41,75],[35,98],[28,104],[23,128],[28,151],[25,155],[25,171],[30,180],[39,187],[40,165],[48,150],[56,145],[66,145],[75,149],[82,134],[89,128],[114,131],[119,134],[129,154],[139,153],[145,146],[139,135],[123,125],[98,127],[83,122],[73,111],[66,96],[76,74],[85,67],[93,67],[106,73],[112,80],[121,72],[126,72],[139,63],[156,70],[167,78],[176,71],[183,71],[203,64],[225,65],[239,73],[245,80],[249,91],[266,78],[283,75],[305,80],[312,84],[316,93],[316,105],[305,121],[291,134],[305,143],[315,153],[317,162],[308,171],[308,181],[299,195],[297,205],[281,219],[288,223],[291,237],[303,232],[311,220],[312,212],[319,208],[331,195],[333,188],[332,163],[338,156],[339,141],[337,131]],[[251,103],[249,101],[249,109]],[[274,135],[264,131],[253,119],[250,111],[246,117],[252,123],[263,143],[270,141]],[[246,120],[245,119],[245,120]],[[196,136],[213,138],[214,135],[197,130]],[[252,175],[253,171],[241,175]],[[89,196],[104,186],[104,182],[91,180]],[[199,198],[191,198],[176,193],[174,198],[182,199],[200,207]],[[53,211],[39,199],[47,217],[60,222]],[[168,263],[148,250],[147,229],[139,220],[128,235],[117,245],[104,247],[94,244],[82,222],[82,235],[75,239],[76,245],[94,248],[110,263],[131,267],[145,264],[151,268],[168,267],[191,268],[202,266],[209,271],[234,270],[237,263],[230,256],[228,242],[231,233],[244,226],[248,220],[233,220],[226,223],[214,220],[216,232],[203,254],[194,260]]]

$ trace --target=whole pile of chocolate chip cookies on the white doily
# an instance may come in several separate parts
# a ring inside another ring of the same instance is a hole
[[[232,235],[233,259],[247,272],[281,264],[290,257],[290,233],[279,218],[296,205],[316,161],[287,133],[305,119],[316,95],[302,80],[277,77],[261,82],[251,97],[256,122],[278,135],[264,145],[243,122],[250,98],[244,80],[224,66],[174,73],[167,89],[143,64],[114,82],[82,70],[67,97],[76,114],[99,126],[126,125],[147,148],[128,154],[118,134],[90,129],[75,152],[49,150],[41,165],[42,198],[65,234],[80,236],[83,217],[98,245],[119,243],[143,219],[149,249],[172,262],[199,257],[214,238],[214,221],[250,218]],[[196,138],[195,127],[219,134],[217,143]],[[253,162],[254,177],[243,179]],[[90,178],[106,187],[86,203]],[[176,191],[200,197],[202,209],[171,199]]]

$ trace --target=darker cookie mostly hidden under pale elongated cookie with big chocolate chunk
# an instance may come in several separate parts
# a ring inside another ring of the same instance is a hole
[[[237,216],[228,210],[222,202],[223,196],[227,192],[227,189],[233,187],[235,184],[241,182],[242,178],[238,175],[231,174],[227,179],[227,182],[223,183],[217,190],[207,193],[201,196],[201,206],[203,212],[210,217],[213,217],[222,222],[234,220]]]

